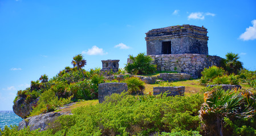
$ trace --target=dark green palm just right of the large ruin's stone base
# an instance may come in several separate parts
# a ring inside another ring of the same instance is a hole
[[[228,74],[238,74],[238,71],[243,69],[243,63],[238,61],[240,57],[235,53],[227,53],[222,65]]]

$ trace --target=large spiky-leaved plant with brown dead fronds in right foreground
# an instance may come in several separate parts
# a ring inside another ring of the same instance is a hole
[[[247,96],[247,97],[246,97]],[[224,91],[213,88],[205,92],[204,101],[200,112],[203,122],[202,129],[206,135],[231,135],[232,131],[224,127],[224,118],[234,121],[238,118],[250,118],[255,115],[255,107],[247,101],[252,101],[251,95],[237,90]],[[255,100],[255,97],[254,97]]]

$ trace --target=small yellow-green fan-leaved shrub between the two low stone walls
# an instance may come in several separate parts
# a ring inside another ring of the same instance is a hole
[[[123,80],[123,82],[127,83],[128,92],[130,94],[143,94],[145,83],[141,79],[133,76]]]

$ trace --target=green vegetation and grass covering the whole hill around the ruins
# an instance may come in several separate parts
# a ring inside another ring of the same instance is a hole
[[[18,91],[14,100],[26,96],[30,103],[40,97],[30,116],[54,111],[72,111],[72,115],[60,116],[46,131],[6,126],[0,135],[256,135],[256,71],[242,69],[237,54],[226,57],[222,67],[204,69],[201,79],[145,84],[136,77],[105,79],[127,72],[156,76],[156,66],[143,53],[130,56],[133,63],[117,73],[102,73],[98,68],[86,71],[86,60],[75,56],[73,68],[65,67],[51,79],[40,76]],[[99,104],[98,85],[107,82],[125,82],[128,92],[108,96]],[[240,84],[243,89],[224,91],[208,84]],[[185,96],[153,96],[157,86],[185,86]],[[134,95],[137,92],[144,95]],[[76,103],[58,109],[71,102]]]

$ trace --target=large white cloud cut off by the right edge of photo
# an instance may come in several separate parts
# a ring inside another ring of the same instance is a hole
[[[243,41],[256,39],[256,20],[252,20],[253,27],[246,28],[246,31],[239,36]]]

